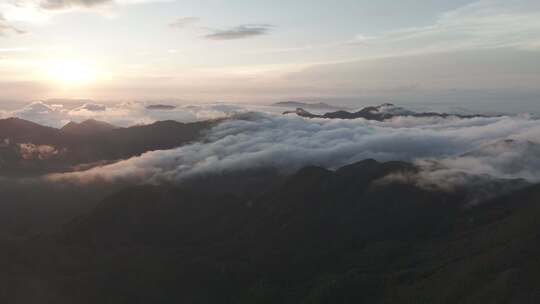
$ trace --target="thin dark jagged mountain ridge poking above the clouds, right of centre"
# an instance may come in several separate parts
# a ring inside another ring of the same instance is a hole
[[[322,115],[312,114],[301,107],[298,107],[294,111],[285,111],[286,114],[296,114],[301,117],[306,118],[329,118],[329,119],[357,119],[363,118],[367,120],[376,120],[384,121],[387,119],[392,119],[399,116],[411,116],[411,117],[458,117],[458,118],[475,118],[475,117],[485,117],[483,115],[461,115],[461,114],[447,114],[447,113],[436,113],[436,112],[422,112],[416,113],[404,109],[402,107],[397,107],[391,103],[385,103],[378,106],[365,107],[357,112],[348,112],[348,111],[335,111],[328,112]]]

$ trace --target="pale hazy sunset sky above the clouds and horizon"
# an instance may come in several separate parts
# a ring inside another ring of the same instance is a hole
[[[534,111],[536,0],[0,0],[0,107],[93,99]]]

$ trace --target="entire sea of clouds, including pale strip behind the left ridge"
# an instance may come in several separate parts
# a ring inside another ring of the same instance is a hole
[[[283,110],[226,103],[151,110],[144,103],[85,103],[67,108],[34,102],[0,115],[53,127],[90,118],[131,126],[167,119],[191,122],[228,117],[200,142],[86,171],[47,176],[53,181],[177,182],[193,176],[267,167],[285,173],[306,165],[335,169],[372,158],[415,163],[418,173],[394,175],[388,180],[424,187],[453,189],[473,184],[480,177],[540,182],[540,120],[528,115],[467,119],[397,116],[378,122],[306,119],[282,115]]]

